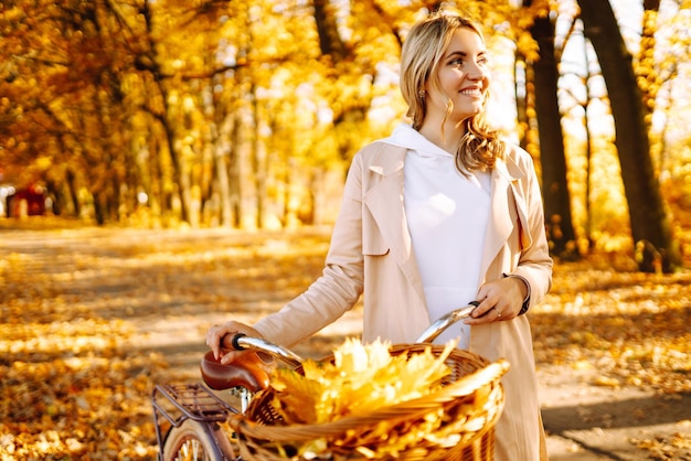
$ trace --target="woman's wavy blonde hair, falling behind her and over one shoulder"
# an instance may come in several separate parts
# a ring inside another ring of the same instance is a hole
[[[422,127],[427,115],[425,83],[433,78],[432,85],[439,87],[437,68],[451,36],[463,28],[477,33],[485,41],[480,28],[474,21],[455,12],[438,10],[413,25],[403,43],[401,93],[408,105],[407,116],[413,120],[413,128],[416,130]],[[483,103],[485,106],[487,96]],[[453,109],[449,99],[444,120]],[[497,159],[504,157],[504,143],[499,132],[485,121],[485,110],[464,120],[463,124],[466,133],[456,151],[456,168],[464,174],[474,170],[491,170]]]

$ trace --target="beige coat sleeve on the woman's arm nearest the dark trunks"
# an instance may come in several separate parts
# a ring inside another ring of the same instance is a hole
[[[552,287],[552,258],[544,227],[544,207],[538,175],[530,154],[513,151],[523,178],[514,184],[521,224],[521,255],[512,276],[529,283],[529,309],[542,301]]]

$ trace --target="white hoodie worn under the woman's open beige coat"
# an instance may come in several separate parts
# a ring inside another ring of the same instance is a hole
[[[415,259],[434,321],[476,299],[480,258],[490,210],[490,175],[465,176],[454,154],[402,124],[381,142],[404,147],[404,203]],[[458,322],[437,337],[460,336],[468,349],[470,326]]]

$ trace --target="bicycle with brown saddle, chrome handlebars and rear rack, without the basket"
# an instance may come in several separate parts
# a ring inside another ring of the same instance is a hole
[[[448,326],[469,317],[475,307],[477,303],[474,301],[438,319],[418,336],[416,344],[430,343]],[[293,367],[299,367],[304,362],[293,351],[263,339],[237,334],[224,339],[224,342],[246,353],[238,354],[238,358],[230,365],[221,365],[208,352],[200,365],[204,384],[163,384],[155,387],[151,404],[159,461],[242,461],[236,433],[228,435],[222,424],[231,415],[244,415],[253,397],[268,388],[275,360]],[[228,390],[236,403],[228,403],[214,390]],[[498,409],[497,412],[500,411]]]

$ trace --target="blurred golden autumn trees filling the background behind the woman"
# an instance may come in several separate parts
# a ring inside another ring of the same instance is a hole
[[[0,194],[99,225],[333,221],[350,159],[404,119],[397,60],[440,2],[2,3]],[[613,4],[618,8],[613,9]],[[673,271],[691,208],[689,0],[459,7],[496,56],[490,112],[533,157],[557,257]]]

